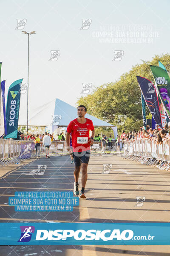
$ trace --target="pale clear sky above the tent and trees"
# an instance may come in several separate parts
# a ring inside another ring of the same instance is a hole
[[[1,0],[0,61],[6,95],[14,80],[27,81],[27,36],[15,29],[17,19],[27,20],[23,30],[37,32],[30,36],[30,108],[54,98],[75,106],[82,95],[82,83],[98,87],[114,82],[141,60],[169,52],[169,10],[169,0]],[[92,20],[87,30],[80,29],[83,18]],[[156,32],[151,44],[149,31],[147,42],[142,44],[104,42],[102,35],[96,37],[112,26],[113,39],[116,35],[124,38],[123,31],[130,38],[128,26],[132,29],[135,25],[150,26],[150,31]],[[60,51],[57,61],[48,61],[51,50]],[[112,61],[114,50],[124,51],[121,61]],[[26,112],[24,105],[26,94],[21,100],[21,111]]]

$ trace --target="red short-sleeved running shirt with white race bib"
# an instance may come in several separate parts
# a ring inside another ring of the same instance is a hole
[[[88,118],[84,124],[77,122],[77,118],[69,123],[67,132],[71,133],[73,152],[90,150],[90,142],[88,142],[90,130],[94,130],[94,125]]]

